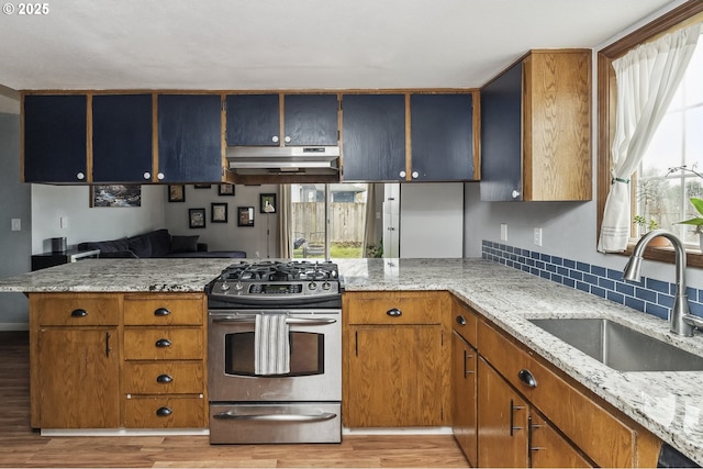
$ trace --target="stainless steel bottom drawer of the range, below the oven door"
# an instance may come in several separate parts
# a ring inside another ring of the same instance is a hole
[[[210,443],[341,443],[341,415],[338,402],[210,404]]]

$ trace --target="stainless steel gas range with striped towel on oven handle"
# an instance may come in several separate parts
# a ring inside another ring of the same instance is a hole
[[[233,264],[208,284],[210,443],[342,440],[333,263]]]

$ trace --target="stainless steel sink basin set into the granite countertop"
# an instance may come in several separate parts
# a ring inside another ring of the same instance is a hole
[[[618,371],[701,371],[703,357],[605,319],[529,320]]]

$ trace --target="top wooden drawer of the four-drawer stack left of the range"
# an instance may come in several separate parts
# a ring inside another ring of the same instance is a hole
[[[125,325],[200,325],[204,319],[203,295],[127,295]]]

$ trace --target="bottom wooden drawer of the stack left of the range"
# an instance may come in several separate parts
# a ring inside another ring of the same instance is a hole
[[[202,397],[127,399],[124,405],[127,428],[204,428],[208,426]]]

